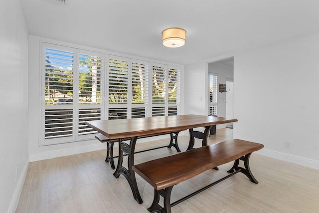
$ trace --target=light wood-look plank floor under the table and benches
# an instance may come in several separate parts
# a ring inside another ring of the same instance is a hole
[[[217,130],[209,144],[232,139],[232,129]],[[137,150],[162,146],[167,140],[138,144]],[[180,149],[188,145],[179,136]],[[196,141],[199,147],[199,141]],[[117,149],[115,150],[117,153]],[[175,154],[162,148],[137,154],[135,163]],[[132,196],[123,176],[114,178],[106,150],[31,162],[16,213],[146,213],[154,189],[137,176],[144,203]],[[117,163],[117,162],[116,162]],[[227,175],[232,163],[174,186],[171,201]],[[173,213],[319,213],[319,171],[253,154],[250,167],[259,184],[238,173],[172,208]]]

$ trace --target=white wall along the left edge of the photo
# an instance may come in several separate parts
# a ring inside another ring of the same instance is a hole
[[[1,2],[0,29],[0,212],[5,213],[16,208],[28,166],[28,32],[19,0]]]

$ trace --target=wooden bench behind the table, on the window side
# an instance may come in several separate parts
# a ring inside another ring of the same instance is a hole
[[[175,147],[177,152],[180,152],[180,149],[179,149],[178,144],[177,144],[177,135],[178,135],[178,133],[179,132],[171,132],[171,133],[160,134],[160,135],[170,134],[170,142],[169,142],[168,146],[156,147],[156,148],[143,150],[143,151],[139,151],[139,152],[135,152],[135,153],[146,152],[146,151],[150,151],[150,150],[160,149],[160,148],[163,148],[163,147],[167,147],[167,148]],[[153,137],[153,136],[158,136],[158,134],[157,135],[141,136],[139,138],[148,138],[148,137]],[[106,137],[106,136],[104,136],[102,134],[96,135],[95,138],[98,139],[101,143],[107,143],[107,153],[106,153],[105,162],[110,162],[111,168],[115,169],[114,158],[118,158],[119,156],[113,156],[113,147],[114,147],[114,143],[119,142],[119,139],[109,139],[108,137]],[[130,140],[131,140],[131,138],[123,138],[122,139],[122,141],[130,141]],[[175,142],[173,142],[173,140],[175,140]]]

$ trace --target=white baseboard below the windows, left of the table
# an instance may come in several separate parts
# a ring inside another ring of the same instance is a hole
[[[59,150],[29,154],[29,159],[30,159],[30,162],[41,161],[45,159],[75,155],[75,154],[80,154],[84,152],[92,152],[92,151],[101,150],[101,149],[106,149],[106,143],[90,144],[90,145],[79,146],[79,147],[72,147],[72,148],[66,148],[66,149],[59,149]]]

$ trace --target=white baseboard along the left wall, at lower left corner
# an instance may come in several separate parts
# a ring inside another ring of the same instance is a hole
[[[29,159],[26,159],[24,167],[23,167],[21,175],[20,175],[20,178],[19,178],[19,181],[18,181],[16,188],[14,190],[14,193],[13,193],[13,196],[11,199],[11,203],[10,203],[10,206],[8,209],[8,213],[14,213],[16,210],[16,207],[18,206],[19,199],[20,199],[21,192],[22,192],[22,188],[23,188],[23,184],[24,184],[24,180],[25,180],[25,176],[26,176],[26,173],[28,171],[28,167],[29,167]]]

